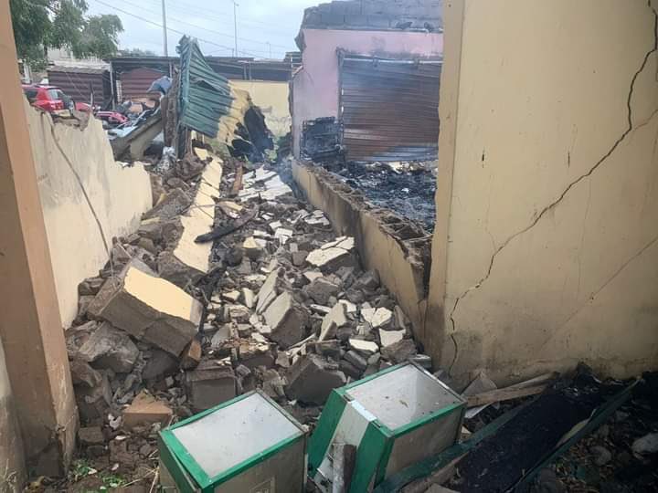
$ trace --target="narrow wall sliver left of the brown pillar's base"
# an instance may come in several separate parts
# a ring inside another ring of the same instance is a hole
[[[23,441],[0,341],[0,491],[22,491],[25,479]]]

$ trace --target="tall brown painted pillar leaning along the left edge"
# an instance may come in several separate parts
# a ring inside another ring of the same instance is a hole
[[[29,466],[69,465],[78,412],[39,202],[8,0],[0,0],[0,337]]]

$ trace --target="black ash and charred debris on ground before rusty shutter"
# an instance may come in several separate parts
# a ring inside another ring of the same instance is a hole
[[[436,220],[436,162],[348,163],[337,173],[379,207],[418,222],[429,233]]]

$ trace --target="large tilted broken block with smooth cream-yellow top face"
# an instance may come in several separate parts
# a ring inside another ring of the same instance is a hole
[[[129,264],[103,285],[88,312],[177,356],[195,336],[201,310],[184,290]]]

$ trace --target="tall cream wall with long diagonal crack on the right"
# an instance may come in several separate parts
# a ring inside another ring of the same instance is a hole
[[[658,367],[656,9],[446,3],[423,339],[454,374]]]

